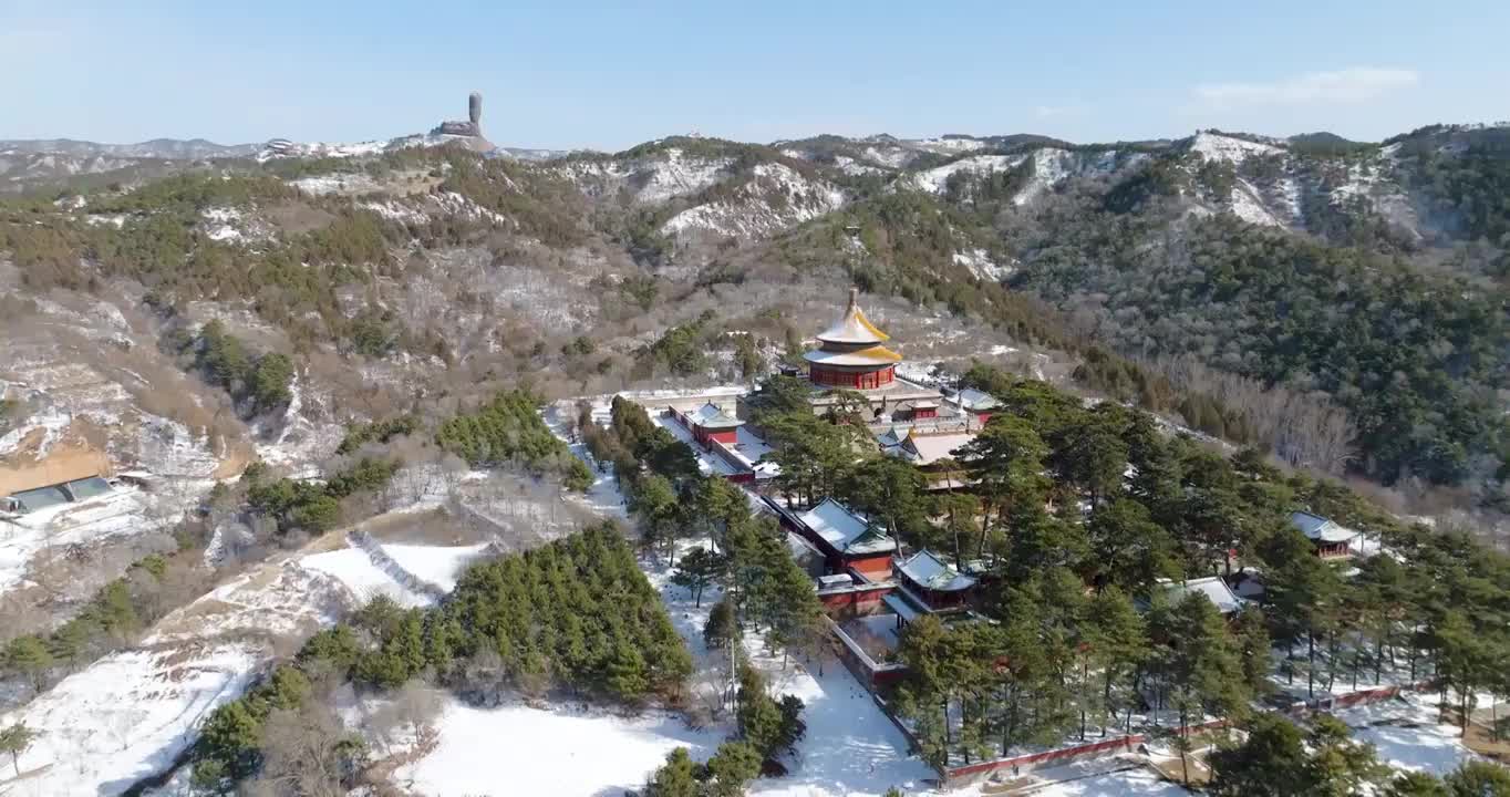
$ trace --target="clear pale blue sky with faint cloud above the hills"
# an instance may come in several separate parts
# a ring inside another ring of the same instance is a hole
[[[0,139],[1071,140],[1510,119],[1510,3],[0,0]]]

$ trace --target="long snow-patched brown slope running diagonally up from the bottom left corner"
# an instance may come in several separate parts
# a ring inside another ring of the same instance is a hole
[[[166,770],[217,705],[237,697],[272,660],[276,639],[302,639],[332,625],[371,595],[426,605],[417,592],[340,533],[254,568],[169,613],[137,646],[65,678],[0,725],[39,732],[20,767],[0,770],[9,797],[112,795]],[[455,584],[480,546],[382,546],[433,584]],[[423,574],[423,575],[421,575]],[[400,574],[402,575],[402,574]],[[9,791],[8,791],[9,789]]]

